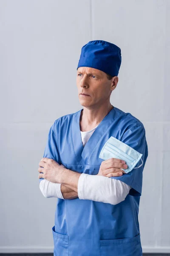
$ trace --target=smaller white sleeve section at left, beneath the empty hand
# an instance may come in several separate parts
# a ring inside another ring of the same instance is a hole
[[[64,199],[62,196],[60,183],[53,183],[49,180],[43,179],[40,182],[40,190],[45,198],[57,197]]]

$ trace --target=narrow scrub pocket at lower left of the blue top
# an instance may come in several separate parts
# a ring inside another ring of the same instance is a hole
[[[54,256],[68,256],[68,235],[55,232],[55,226],[52,227],[54,239]]]

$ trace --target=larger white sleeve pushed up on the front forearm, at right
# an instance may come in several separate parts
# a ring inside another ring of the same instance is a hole
[[[121,180],[82,173],[79,176],[77,193],[79,199],[119,204],[125,200],[130,189],[131,186]]]

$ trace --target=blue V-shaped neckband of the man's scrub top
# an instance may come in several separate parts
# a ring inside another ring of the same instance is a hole
[[[93,152],[96,145],[99,143],[101,137],[105,134],[108,130],[109,126],[113,123],[113,116],[115,114],[115,107],[108,112],[108,114],[102,119],[102,121],[97,126],[96,130],[93,132],[91,137],[89,138],[88,142],[83,146],[82,138],[80,133],[80,115],[81,110],[73,114],[72,119],[72,142],[74,147],[74,153],[77,157],[77,160],[80,163],[88,164],[88,158],[90,157],[91,153]]]

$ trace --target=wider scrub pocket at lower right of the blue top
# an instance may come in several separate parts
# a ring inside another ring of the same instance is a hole
[[[100,240],[100,256],[142,256],[140,234],[132,238]]]

